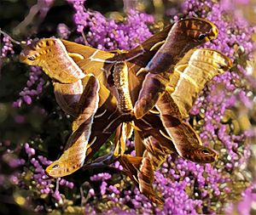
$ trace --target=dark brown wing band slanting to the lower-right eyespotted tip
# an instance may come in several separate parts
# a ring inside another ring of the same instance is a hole
[[[207,156],[201,153],[200,137],[189,123],[183,122],[178,106],[170,93],[166,91],[157,102],[156,108],[160,111],[160,120],[179,156],[196,162],[215,161],[217,154],[213,150],[207,148],[209,150]]]

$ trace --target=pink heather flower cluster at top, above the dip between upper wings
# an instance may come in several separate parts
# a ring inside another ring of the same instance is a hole
[[[84,8],[84,1],[68,1],[73,4],[75,14],[74,23],[78,32],[86,32],[86,40],[90,46],[113,50],[131,49],[151,36],[148,25],[154,23],[154,18],[148,14],[140,14],[130,10],[125,20],[106,19],[97,11],[89,11]]]

